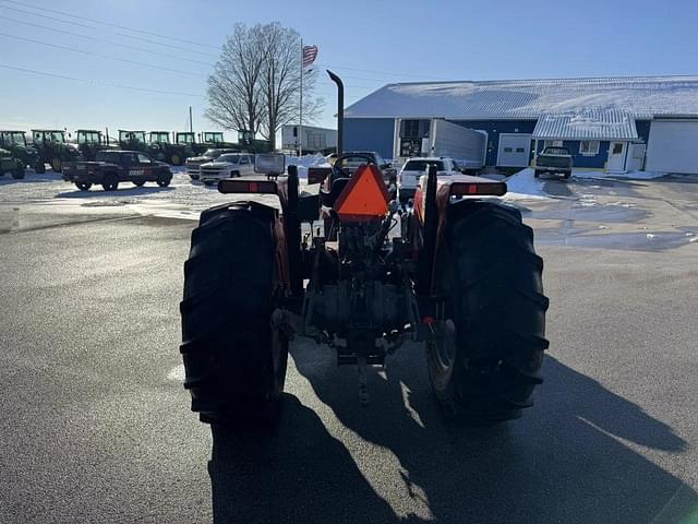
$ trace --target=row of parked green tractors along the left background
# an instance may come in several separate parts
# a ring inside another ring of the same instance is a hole
[[[94,160],[105,150],[125,150],[147,153],[153,159],[181,166],[186,158],[200,156],[212,147],[241,151],[242,147],[257,152],[266,151],[265,141],[236,144],[224,141],[221,132],[172,132],[119,130],[118,140],[94,129],[79,129],[75,138],[65,136],[65,130],[33,129],[29,140],[24,131],[0,130],[0,176],[24,178],[26,168],[45,172],[50,165],[61,172],[67,162]],[[198,134],[198,136],[197,136]]]

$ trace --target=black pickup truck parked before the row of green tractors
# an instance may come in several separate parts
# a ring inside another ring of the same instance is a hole
[[[63,180],[87,191],[94,183],[105,191],[116,191],[119,182],[132,182],[137,187],[156,182],[164,188],[172,180],[172,171],[164,162],[157,162],[139,151],[100,151],[95,162],[67,162]]]

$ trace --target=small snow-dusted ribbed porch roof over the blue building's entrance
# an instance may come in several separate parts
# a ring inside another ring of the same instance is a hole
[[[635,140],[635,118],[616,109],[599,111],[581,109],[564,114],[541,115],[533,130],[533,139],[567,140]]]

